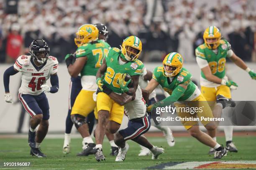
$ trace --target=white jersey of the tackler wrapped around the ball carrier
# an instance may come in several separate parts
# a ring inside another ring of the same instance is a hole
[[[146,109],[146,102],[142,97],[141,87],[138,85],[135,99],[124,105],[125,115],[127,115],[130,120],[143,117],[146,114]]]

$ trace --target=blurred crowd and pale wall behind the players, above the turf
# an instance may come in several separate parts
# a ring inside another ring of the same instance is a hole
[[[15,3],[17,2],[17,3]],[[36,38],[44,38],[58,58],[60,90],[47,94],[50,101],[51,132],[62,132],[68,109],[70,76],[63,63],[67,53],[76,50],[74,33],[84,23],[104,23],[109,30],[108,42],[119,47],[129,35],[138,36],[143,42],[140,60],[148,70],[161,65],[163,57],[177,51],[184,57],[185,67],[192,72],[199,85],[200,69],[195,62],[194,49],[203,43],[202,33],[209,25],[220,28],[233,51],[256,70],[256,5],[253,0],[2,0],[0,1],[0,72]],[[246,72],[227,60],[227,75],[238,82],[232,92],[234,100],[256,100],[255,82]],[[154,64],[153,64],[154,63]],[[0,77],[0,81],[3,76]],[[2,81],[3,82],[3,81]],[[10,91],[15,98],[20,85],[20,75],[10,79]],[[1,84],[2,89],[3,83]],[[0,92],[3,96],[4,90]],[[157,91],[161,99],[161,91]],[[1,102],[0,133],[26,132],[28,115],[20,123],[21,105]],[[11,106],[11,107],[10,107]],[[9,123],[9,120],[13,123]],[[125,119],[127,120],[127,119]],[[125,123],[124,123],[125,124]],[[19,129],[19,130],[18,130]],[[152,130],[156,130],[151,128]],[[184,130],[182,126],[172,127]],[[255,127],[236,127],[237,130]]]

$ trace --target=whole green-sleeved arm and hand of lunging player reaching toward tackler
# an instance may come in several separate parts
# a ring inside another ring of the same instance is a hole
[[[176,102],[182,95],[183,93],[187,90],[187,85],[178,85],[172,92],[172,95],[169,97],[165,98],[164,100],[161,100],[159,102],[154,103],[153,105],[149,105],[147,107],[147,111],[151,112],[154,108],[156,107],[164,107],[171,105],[172,103]]]

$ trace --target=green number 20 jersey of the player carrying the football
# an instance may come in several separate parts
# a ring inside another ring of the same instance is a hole
[[[103,84],[110,88],[113,92],[122,93],[118,78],[123,73],[130,76],[143,74],[143,63],[140,60],[134,60],[120,65],[118,57],[123,55],[120,49],[111,48],[106,57],[107,70],[104,74]]]

